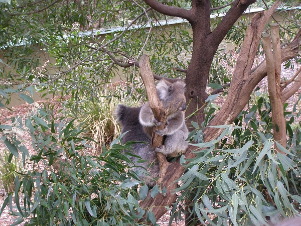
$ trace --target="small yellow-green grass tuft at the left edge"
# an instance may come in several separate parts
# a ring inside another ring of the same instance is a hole
[[[5,191],[10,193],[15,191],[15,178],[22,178],[22,161],[15,156],[10,156],[8,150],[4,150],[0,155],[0,181]]]

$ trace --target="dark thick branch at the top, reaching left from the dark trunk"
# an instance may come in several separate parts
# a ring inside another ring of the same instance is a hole
[[[156,0],[143,0],[149,7],[152,7],[154,10],[158,11],[161,14],[172,16],[172,17],[181,17],[190,21],[192,19],[192,13],[189,10],[185,10],[178,7],[166,6],[162,3],[157,2]]]

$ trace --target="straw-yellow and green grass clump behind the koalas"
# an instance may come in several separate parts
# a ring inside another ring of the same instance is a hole
[[[77,110],[71,111],[71,116],[82,125],[84,132],[81,136],[88,140],[91,154],[98,155],[103,147],[109,148],[110,143],[120,135],[121,128],[113,116],[115,106],[121,103],[120,98],[124,99],[122,103],[126,105],[138,104],[137,100],[124,97],[126,85],[126,82],[115,82],[91,99],[79,101],[75,106]]]

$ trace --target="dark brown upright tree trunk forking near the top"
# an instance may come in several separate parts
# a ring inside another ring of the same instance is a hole
[[[210,30],[210,1],[192,1],[193,16],[189,22],[193,31],[193,52],[186,74],[187,123],[197,122],[199,125],[205,120],[205,100],[208,97],[206,86],[213,57],[219,44],[224,39],[232,25],[243,14],[254,0],[235,1],[216,27]]]

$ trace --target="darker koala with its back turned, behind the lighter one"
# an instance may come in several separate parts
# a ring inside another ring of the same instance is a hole
[[[130,156],[129,159],[136,165],[141,166],[137,167],[134,171],[137,170],[147,170],[149,175],[141,174],[140,178],[145,182],[145,184],[151,188],[156,184],[156,178],[159,177],[159,162],[157,159],[156,151],[152,146],[152,139],[144,132],[142,125],[139,123],[139,112],[140,107],[128,107],[123,104],[118,104],[114,111],[114,115],[117,119],[117,122],[121,125],[121,133],[127,132],[122,138],[122,143],[128,141],[139,141],[146,142],[146,144],[136,143],[132,145],[131,153],[141,157],[145,162],[141,162],[141,159]],[[123,150],[125,152],[125,150]],[[129,152],[126,150],[126,152]],[[150,166],[151,165],[151,166]],[[143,168],[145,169],[143,169]]]

